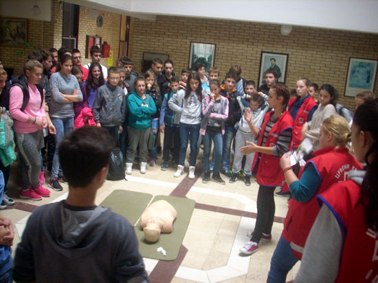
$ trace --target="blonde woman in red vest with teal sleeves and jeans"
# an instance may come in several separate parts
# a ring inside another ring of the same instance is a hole
[[[346,180],[348,171],[361,165],[346,147],[351,131],[340,115],[325,119],[320,127],[320,147],[304,166],[298,180],[290,166],[290,154],[282,156],[280,165],[293,199],[284,222],[284,229],[271,258],[267,282],[285,282],[290,269],[302,258],[304,244],[319,212],[316,196],[332,184]]]

